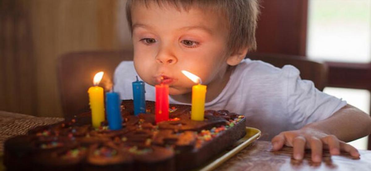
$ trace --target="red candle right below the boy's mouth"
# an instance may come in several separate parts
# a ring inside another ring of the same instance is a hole
[[[155,121],[156,123],[169,120],[169,86],[163,83],[155,85]]]

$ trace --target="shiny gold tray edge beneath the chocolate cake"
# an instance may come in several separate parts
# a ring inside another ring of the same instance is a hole
[[[248,145],[250,145],[252,142],[256,141],[262,132],[259,129],[247,127],[246,126],[246,135],[245,137],[239,139],[237,142],[235,142],[232,145],[232,149],[228,149],[224,152],[221,152],[219,155],[214,157],[210,160],[210,162],[207,162],[206,164],[202,165],[201,167],[198,167],[192,171],[211,171],[219,167],[221,164],[223,164],[225,161],[236,155],[238,152],[240,152],[242,149],[246,148]]]

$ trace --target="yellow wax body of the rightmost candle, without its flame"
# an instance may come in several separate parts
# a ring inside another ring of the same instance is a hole
[[[194,121],[203,121],[205,112],[206,85],[192,86],[192,107],[191,119]]]

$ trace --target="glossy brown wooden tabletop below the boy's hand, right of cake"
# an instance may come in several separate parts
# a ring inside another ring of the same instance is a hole
[[[256,141],[249,147],[225,162],[217,171],[369,171],[371,170],[371,151],[359,150],[361,158],[354,159],[348,154],[330,156],[324,151],[321,163],[311,162],[311,154],[307,153],[304,160],[292,158],[292,148],[283,147],[281,151],[272,152],[272,145],[267,141]],[[309,151],[308,151],[309,152]]]

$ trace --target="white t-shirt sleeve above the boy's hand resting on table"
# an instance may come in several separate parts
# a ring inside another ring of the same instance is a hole
[[[286,65],[282,69],[287,76],[287,110],[296,129],[324,120],[347,104],[342,99],[319,91],[312,81],[302,80],[295,67]]]

